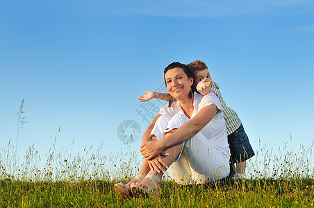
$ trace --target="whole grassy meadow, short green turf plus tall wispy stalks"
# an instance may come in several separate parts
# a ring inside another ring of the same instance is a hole
[[[90,147],[72,156],[53,145],[40,162],[34,147],[20,161],[9,144],[0,153],[0,207],[313,207],[313,144],[298,153],[287,144],[279,156],[256,150],[241,180],[181,186],[166,174],[159,199],[115,195],[113,184],[127,182],[139,168],[138,153],[128,148],[108,156]]]

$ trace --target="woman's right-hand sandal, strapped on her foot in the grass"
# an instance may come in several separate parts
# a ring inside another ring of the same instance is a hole
[[[156,175],[146,175],[146,177],[152,181],[155,188],[151,188],[148,185],[142,187],[140,185],[131,184],[131,192],[133,196],[154,196],[155,198],[160,198],[160,188],[156,185],[160,182],[160,177]]]

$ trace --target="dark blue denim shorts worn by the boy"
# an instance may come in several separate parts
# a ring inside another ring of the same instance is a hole
[[[251,144],[249,144],[249,137],[247,137],[242,124],[235,132],[228,135],[228,143],[233,164],[236,162],[244,162],[255,155]]]

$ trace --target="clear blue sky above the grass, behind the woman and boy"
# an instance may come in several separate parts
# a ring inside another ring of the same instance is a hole
[[[314,139],[313,16],[293,0],[1,2],[0,146],[15,145],[24,98],[19,155],[35,144],[44,157],[57,134],[58,149],[75,138],[74,154],[117,153],[122,121],[147,128],[138,97],[163,86],[163,68],[203,60],[254,149],[291,135],[298,150]]]

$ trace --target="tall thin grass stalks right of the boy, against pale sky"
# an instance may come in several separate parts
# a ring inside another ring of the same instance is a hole
[[[289,143],[291,148],[289,148]],[[271,178],[281,180],[287,178],[310,178],[314,176],[313,145],[299,146],[299,152],[295,153],[290,141],[278,147],[277,154],[274,149],[267,149],[266,144],[256,150],[256,156],[247,162],[247,178]]]

